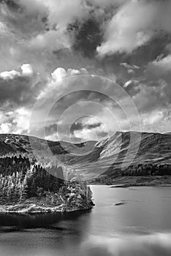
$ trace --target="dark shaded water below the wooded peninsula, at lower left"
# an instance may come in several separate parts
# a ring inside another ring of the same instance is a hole
[[[0,255],[77,255],[88,239],[89,211],[0,214]]]

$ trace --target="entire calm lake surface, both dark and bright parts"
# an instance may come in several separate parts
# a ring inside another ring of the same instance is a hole
[[[171,187],[91,189],[91,211],[0,214],[0,256],[171,255]]]

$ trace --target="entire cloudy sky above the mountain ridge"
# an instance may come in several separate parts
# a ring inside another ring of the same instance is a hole
[[[170,0],[0,1],[0,133],[170,132]]]

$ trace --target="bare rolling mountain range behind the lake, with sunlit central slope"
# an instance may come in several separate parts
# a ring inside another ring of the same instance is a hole
[[[128,164],[132,158],[132,165],[171,163],[170,133],[153,132],[116,132],[111,138],[99,142],[78,144],[64,141],[46,142],[26,135],[3,134],[0,135],[0,155],[20,153],[33,157],[30,140],[37,149],[37,154],[45,159],[45,162],[53,160],[51,154],[47,154],[48,145],[54,159],[66,167],[75,168],[86,178],[115,173],[115,170],[121,168],[123,163]]]

